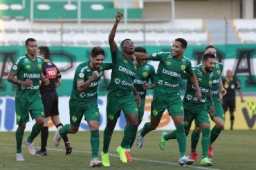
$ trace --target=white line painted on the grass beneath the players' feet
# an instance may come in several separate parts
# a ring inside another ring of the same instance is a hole
[[[8,143],[0,143],[0,145],[4,145],[4,146],[16,146],[14,144],[8,144]],[[23,147],[25,147],[24,145],[22,145]],[[35,147],[37,149],[40,149],[40,147]],[[55,149],[55,148],[48,148],[47,147],[47,150],[52,150],[52,151],[66,151],[64,149]],[[78,153],[91,153],[91,151],[76,151],[76,150],[72,150],[74,152],[78,152]],[[110,154],[109,153],[109,156],[112,156],[112,157],[116,157],[118,158],[119,156],[116,155],[116,154]],[[142,158],[134,158],[132,157],[133,160],[140,160],[140,161],[144,161],[144,162],[155,162],[155,163],[162,163],[162,164],[172,164],[172,165],[176,165],[176,166],[181,166],[179,165],[178,163],[174,163],[174,162],[165,162],[165,161],[161,161],[161,160],[147,160],[147,159],[142,159]],[[185,167],[185,166],[184,166]],[[190,168],[194,168],[194,169],[205,169],[205,170],[220,170],[220,169],[214,169],[214,168],[208,168],[208,167],[197,167],[197,166],[193,166],[193,165],[190,165],[188,166]]]

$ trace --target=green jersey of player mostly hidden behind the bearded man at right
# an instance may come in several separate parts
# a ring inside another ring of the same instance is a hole
[[[202,67],[202,64],[197,65],[196,67]],[[221,78],[221,73],[223,70],[223,64],[222,63],[216,63],[215,67],[212,71],[213,73],[213,81],[212,81],[212,100],[214,102],[220,102],[219,99],[219,79]]]

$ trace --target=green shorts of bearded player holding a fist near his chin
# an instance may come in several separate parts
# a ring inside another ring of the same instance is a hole
[[[91,103],[90,105],[84,106],[75,106],[69,103],[69,116],[70,124],[74,127],[80,126],[82,116],[84,116],[84,120],[87,122],[90,120],[100,122],[98,103]]]

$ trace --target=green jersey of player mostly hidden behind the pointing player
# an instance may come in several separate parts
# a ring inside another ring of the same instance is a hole
[[[138,66],[138,70],[136,72],[134,87],[136,88],[138,94],[140,94],[140,98],[146,98],[147,90],[143,89],[144,81],[149,83],[149,79],[152,83],[155,82],[155,69],[153,65],[145,62],[143,65]]]

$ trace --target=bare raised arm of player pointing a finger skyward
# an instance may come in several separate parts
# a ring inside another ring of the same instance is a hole
[[[118,45],[116,45],[115,36],[116,36],[116,29],[118,28],[118,23],[121,21],[121,19],[122,19],[122,13],[119,12],[118,10],[118,14],[116,14],[116,21],[113,24],[113,28],[109,34],[109,47],[111,52],[116,52],[118,48]]]

